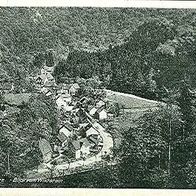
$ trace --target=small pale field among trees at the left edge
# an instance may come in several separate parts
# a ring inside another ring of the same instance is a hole
[[[5,103],[11,105],[22,105],[23,103],[28,103],[31,98],[31,93],[7,93],[3,95]],[[36,94],[34,94],[36,95]]]

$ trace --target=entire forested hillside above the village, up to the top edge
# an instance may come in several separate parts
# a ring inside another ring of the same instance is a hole
[[[28,76],[48,49],[60,79],[98,75],[110,89],[148,98],[184,77],[195,85],[195,10],[1,8],[0,18],[1,77],[18,88],[31,91]]]

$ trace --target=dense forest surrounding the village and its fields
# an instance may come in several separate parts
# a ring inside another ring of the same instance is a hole
[[[0,175],[8,154],[14,175],[38,166],[37,141],[56,131],[55,104],[35,95],[31,79],[46,60],[59,83],[97,78],[166,103],[122,133],[117,165],[66,177],[63,187],[196,187],[196,10],[0,8],[0,27],[0,79],[29,96],[1,115]]]

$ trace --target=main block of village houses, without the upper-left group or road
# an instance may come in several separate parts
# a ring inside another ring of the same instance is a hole
[[[78,101],[73,95],[71,98],[56,100],[59,110],[63,108],[70,118],[63,121],[59,128],[57,138],[60,145],[55,145],[54,151],[66,154],[71,150],[75,159],[87,158],[97,154],[103,147],[100,131],[104,128],[101,124],[95,126],[95,123],[107,118],[106,103],[99,100],[95,106],[87,108],[84,103],[88,98],[83,97]]]

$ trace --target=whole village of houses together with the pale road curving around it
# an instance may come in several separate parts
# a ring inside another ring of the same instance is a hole
[[[85,96],[74,79],[57,85],[53,70],[54,67],[44,66],[34,78],[38,92],[56,102],[59,115],[58,135],[54,141],[39,140],[42,168],[66,170],[87,166],[106,157],[110,160],[113,139],[105,132],[103,124],[114,116],[114,112],[109,112],[112,104],[105,98],[104,89],[91,88],[90,96]]]

